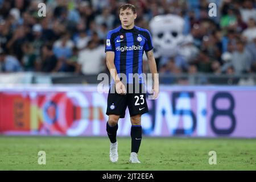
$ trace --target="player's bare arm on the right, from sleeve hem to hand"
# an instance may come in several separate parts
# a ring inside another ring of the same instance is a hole
[[[152,85],[152,91],[154,92],[153,99],[158,98],[159,94],[159,76],[158,76],[158,70],[156,69],[156,63],[155,63],[155,57],[153,54],[152,49],[150,51],[146,52],[148,65],[150,67],[150,72],[152,73],[152,79],[154,84]]]

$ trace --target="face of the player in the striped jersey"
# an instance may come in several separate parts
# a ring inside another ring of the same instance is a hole
[[[131,9],[120,10],[119,18],[121,20],[122,26],[130,27],[133,26],[134,20],[136,19],[137,14],[133,13]]]

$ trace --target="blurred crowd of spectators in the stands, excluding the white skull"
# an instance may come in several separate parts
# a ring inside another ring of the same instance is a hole
[[[38,4],[46,4],[40,17]],[[208,15],[209,3],[217,16]],[[135,24],[150,30],[161,14],[180,15],[196,54],[187,67],[179,55],[156,59],[160,73],[256,72],[256,1],[253,0],[0,0],[0,72],[106,72],[105,38],[120,26],[118,7],[137,7]],[[154,42],[153,42],[154,44]],[[146,58],[144,71],[147,72]]]

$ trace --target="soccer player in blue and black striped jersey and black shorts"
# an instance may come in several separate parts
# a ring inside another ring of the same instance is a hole
[[[106,110],[106,114],[109,115],[106,131],[110,139],[110,160],[112,162],[118,160],[116,138],[118,119],[125,117],[125,110],[128,106],[131,119],[130,163],[141,163],[137,155],[142,140],[141,115],[148,113],[145,81],[141,76],[144,51],[154,78],[152,99],[156,99],[159,94],[159,79],[152,52],[151,35],[148,30],[134,25],[136,17],[134,5],[125,4],[119,7],[121,26],[109,31],[106,38],[106,64],[113,78]],[[136,73],[139,76],[134,76]]]

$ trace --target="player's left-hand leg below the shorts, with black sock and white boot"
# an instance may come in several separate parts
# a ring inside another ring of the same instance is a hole
[[[109,120],[106,123],[106,131],[110,140],[109,159],[111,162],[118,160],[118,142],[117,142],[117,129],[118,129],[119,115],[110,114]]]

